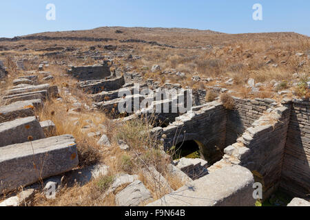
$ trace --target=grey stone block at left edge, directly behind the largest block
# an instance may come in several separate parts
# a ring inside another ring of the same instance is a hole
[[[30,136],[32,140],[45,138],[43,129],[34,116],[0,124],[0,147],[27,142]]]

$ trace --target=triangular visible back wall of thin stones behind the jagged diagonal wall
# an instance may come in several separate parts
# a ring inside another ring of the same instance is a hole
[[[245,129],[258,120],[264,111],[276,104],[275,100],[269,98],[250,100],[234,97],[234,100],[234,109],[227,114],[226,146],[234,144]]]

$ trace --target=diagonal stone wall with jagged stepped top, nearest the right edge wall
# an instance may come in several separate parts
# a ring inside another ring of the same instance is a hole
[[[263,187],[263,199],[271,195],[280,184],[284,148],[289,126],[290,109],[269,109],[238,138],[238,142],[225,148],[223,159],[240,164],[254,173]]]

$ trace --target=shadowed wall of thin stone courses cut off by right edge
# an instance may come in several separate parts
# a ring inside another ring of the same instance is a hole
[[[310,109],[309,100],[293,100],[285,144],[280,188],[309,199],[310,194]]]

